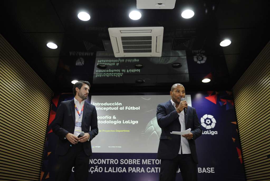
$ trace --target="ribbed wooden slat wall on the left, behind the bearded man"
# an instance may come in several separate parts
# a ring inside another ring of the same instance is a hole
[[[0,180],[40,179],[52,95],[0,34]]]

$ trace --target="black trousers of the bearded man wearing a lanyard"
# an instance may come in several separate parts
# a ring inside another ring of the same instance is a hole
[[[75,181],[87,181],[89,158],[83,150],[83,143],[72,145],[66,155],[59,155],[56,163],[56,181],[68,181],[74,166]]]

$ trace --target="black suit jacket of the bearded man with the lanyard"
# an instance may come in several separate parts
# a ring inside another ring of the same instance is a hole
[[[91,127],[91,130],[90,130]],[[52,130],[59,137],[56,154],[65,155],[70,148],[68,139],[64,139],[67,133],[74,133],[75,129],[75,103],[74,99],[61,102],[53,120]],[[90,140],[99,132],[97,128],[97,111],[94,105],[85,101],[82,117],[82,131],[89,133]],[[83,142],[86,155],[92,155],[91,141]]]

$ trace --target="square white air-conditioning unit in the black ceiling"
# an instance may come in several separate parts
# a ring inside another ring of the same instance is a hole
[[[163,27],[109,28],[115,57],[161,57]]]

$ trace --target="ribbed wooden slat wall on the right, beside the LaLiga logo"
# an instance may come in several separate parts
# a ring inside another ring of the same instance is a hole
[[[270,42],[232,90],[247,180],[270,180]]]

